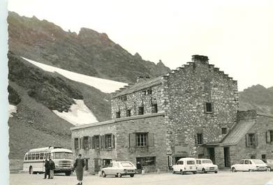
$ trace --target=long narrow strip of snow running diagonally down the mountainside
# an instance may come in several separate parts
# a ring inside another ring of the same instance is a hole
[[[114,80],[105,80],[99,77],[91,77],[89,75],[82,75],[80,73],[74,73],[72,71],[66,71],[61,68],[49,66],[46,64],[41,64],[40,62],[33,61],[31,59],[26,59],[22,57],[22,59],[25,59],[29,61],[29,63],[34,64],[35,66],[42,68],[44,71],[49,72],[57,72],[65,77],[67,77],[70,80],[76,81],[76,82],[82,82],[84,84],[87,84],[91,87],[95,87],[96,89],[99,89],[105,93],[112,93],[116,90],[118,90],[121,87],[124,87],[124,85],[127,85],[126,83],[117,82]]]

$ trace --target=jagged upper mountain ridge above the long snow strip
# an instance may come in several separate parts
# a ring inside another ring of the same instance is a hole
[[[140,75],[157,77],[170,71],[162,61],[145,61],[92,29],[76,34],[47,20],[10,12],[8,34],[9,50],[18,56],[84,75],[135,82]]]

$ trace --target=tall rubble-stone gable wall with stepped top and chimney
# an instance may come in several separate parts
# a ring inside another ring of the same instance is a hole
[[[217,143],[224,137],[221,128],[229,131],[236,122],[237,81],[208,64],[204,56],[193,56],[193,62],[163,77],[168,152],[176,154],[180,142],[189,145],[188,156],[204,154],[196,145],[196,133],[202,133],[204,144]],[[212,112],[205,112],[206,102],[212,103]]]

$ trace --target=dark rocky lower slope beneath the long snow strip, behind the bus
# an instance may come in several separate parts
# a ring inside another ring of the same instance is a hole
[[[73,99],[83,99],[99,121],[110,119],[110,94],[43,71],[13,52],[8,53],[8,69],[8,99],[17,107],[8,121],[10,158],[20,159],[35,147],[71,148],[73,125],[52,110],[67,112]]]

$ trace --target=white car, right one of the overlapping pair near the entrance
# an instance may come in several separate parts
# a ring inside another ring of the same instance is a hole
[[[207,158],[198,158],[196,159],[196,166],[198,172],[218,172],[218,165],[214,165],[212,160]]]

